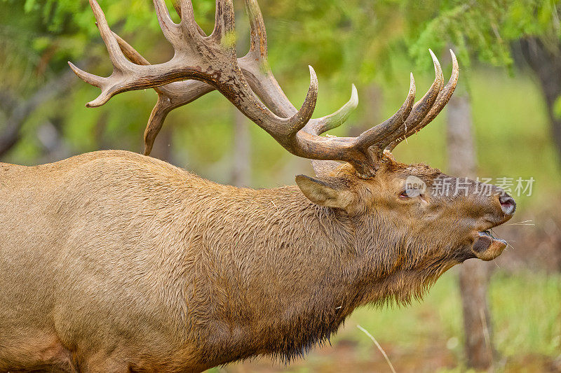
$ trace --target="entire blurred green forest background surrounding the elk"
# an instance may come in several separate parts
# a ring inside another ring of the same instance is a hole
[[[239,55],[249,44],[243,1],[234,1]],[[532,194],[514,197],[518,211],[496,233],[509,241],[494,262],[481,263],[487,288],[484,346],[478,363],[468,346],[454,268],[425,300],[407,308],[360,309],[332,346],[290,366],[262,359],[221,372],[389,372],[361,325],[381,344],[397,372],[561,372],[561,24],[559,1],[261,0],[269,62],[295,106],[318,73],[315,117],[349,98],[360,104],[333,134],[356,136],[381,122],[407,94],[409,72],[421,96],[433,80],[428,48],[450,74],[448,48],[461,66],[456,98],[431,125],[396,148],[403,162],[450,170],[454,115],[467,118],[473,156],[466,173],[534,178]],[[151,1],[101,0],[111,28],[151,63],[173,55]],[[171,3],[168,3],[171,7]],[[213,26],[212,0],[194,0],[196,19]],[[173,13],[173,10],[172,10]],[[176,17],[177,20],[177,17]],[[128,92],[101,108],[85,108],[98,90],[67,66],[107,76],[111,64],[86,0],[0,0],[0,161],[54,162],[100,149],[142,152],[142,133],[156,102],[153,90]],[[456,114],[452,113],[454,111]],[[451,137],[452,136],[452,137]],[[462,142],[466,142],[462,141]],[[469,150],[469,149],[468,149]],[[173,111],[154,157],[220,183],[270,188],[312,174],[217,92]],[[468,163],[469,163],[468,162]],[[452,167],[453,168],[453,167]],[[514,188],[513,188],[514,189]],[[468,272],[471,273],[471,272]],[[461,277],[461,276],[460,276]],[[467,277],[469,279],[469,276]],[[464,300],[466,297],[464,296]],[[487,320],[488,318],[488,320]],[[483,358],[485,360],[485,358]]]

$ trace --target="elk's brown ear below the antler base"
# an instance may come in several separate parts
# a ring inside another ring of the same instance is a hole
[[[296,176],[296,184],[314,204],[346,209],[353,201],[352,192],[339,183],[329,183],[306,175]]]

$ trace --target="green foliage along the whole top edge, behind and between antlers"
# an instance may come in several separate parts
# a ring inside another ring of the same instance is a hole
[[[402,57],[405,51],[415,59],[417,67],[430,69],[428,48],[442,55],[453,45],[464,68],[470,65],[471,57],[496,66],[511,66],[511,41],[527,35],[559,38],[560,1],[260,3],[269,31],[271,64],[280,75],[287,79],[302,78],[307,73],[306,64],[311,64],[320,78],[363,85],[375,78],[393,80],[391,61]],[[154,45],[165,44],[151,1],[100,0],[100,6],[114,31],[137,49],[151,50]],[[170,0],[168,6],[171,8]],[[240,4],[236,6],[241,10]],[[214,23],[214,1],[194,1],[194,8],[197,21],[209,32]],[[27,36],[30,42],[25,43],[28,54],[53,54],[54,64],[49,66],[55,66],[54,69],[64,68],[66,59],[81,59],[92,52],[102,55],[86,0],[0,0],[0,10],[5,27],[13,20],[17,29],[31,33]],[[170,13],[178,20],[173,10]],[[238,22],[238,29],[247,31],[247,25]],[[247,35],[238,32],[238,43],[241,40],[245,44],[245,39]]]

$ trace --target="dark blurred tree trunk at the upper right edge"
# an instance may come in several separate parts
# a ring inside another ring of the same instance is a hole
[[[539,79],[548,108],[551,134],[561,160],[561,101],[557,103],[561,97],[561,44],[528,37],[520,40],[520,50]]]

